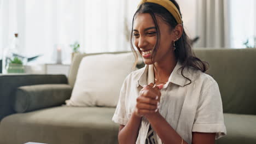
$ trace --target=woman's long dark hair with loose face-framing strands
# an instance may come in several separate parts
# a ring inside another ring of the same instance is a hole
[[[177,9],[179,10],[179,13],[181,14],[181,10],[179,9],[178,3],[175,0],[170,0],[170,1],[174,5],[176,5]],[[155,47],[152,52],[152,62],[154,62],[155,54],[157,53],[157,51],[159,49],[159,43],[160,43],[159,42],[160,41],[160,31],[159,31],[158,21],[156,20],[156,15],[161,17],[161,19],[164,20],[165,22],[167,22],[168,25],[171,27],[171,29],[174,29],[178,25],[178,23],[172,16],[172,14],[167,9],[162,7],[161,5],[146,2],[146,3],[141,4],[138,7],[135,14],[133,15],[132,29],[133,29],[133,22],[135,20],[136,15],[142,14],[142,13],[150,14],[153,18],[153,21],[154,21],[154,24],[156,27],[157,40],[156,40],[156,44],[155,44]],[[181,14],[181,16],[182,16],[182,14]],[[183,27],[183,22],[182,22],[182,27]],[[133,38],[133,34],[131,32],[130,44],[131,44],[132,51],[135,54],[135,58],[136,58],[136,62],[137,62],[138,54],[133,47],[132,38]],[[205,73],[206,70],[208,69],[208,63],[205,61],[202,61],[201,59],[199,59],[195,56],[195,53],[193,52],[192,47],[191,47],[191,41],[188,38],[188,35],[185,33],[184,28],[183,28],[183,33],[182,33],[181,38],[179,38],[174,43],[176,45],[176,50],[174,51],[174,55],[176,56],[176,59],[179,62],[181,62],[181,64],[182,64],[182,67],[180,68],[181,74],[183,77],[188,79],[191,83],[191,80],[188,77],[183,75],[184,69],[187,67],[190,67],[190,68],[193,68],[196,70],[201,70],[203,73]],[[189,85],[190,83],[188,83],[187,85]]]

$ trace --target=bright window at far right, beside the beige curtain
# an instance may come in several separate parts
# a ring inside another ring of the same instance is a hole
[[[231,47],[243,48],[248,39],[248,45],[256,43],[256,1],[232,0],[230,1],[231,16]]]

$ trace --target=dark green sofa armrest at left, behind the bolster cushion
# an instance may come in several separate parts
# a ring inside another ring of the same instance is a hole
[[[12,105],[16,88],[28,85],[62,83],[67,84],[65,75],[0,75],[0,121],[14,113]]]

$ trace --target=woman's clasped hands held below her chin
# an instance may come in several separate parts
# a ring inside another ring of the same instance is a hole
[[[143,88],[139,92],[138,98],[136,99],[136,116],[149,116],[158,112],[159,101],[161,97],[160,89],[162,89],[162,87],[162,84],[154,86],[153,83],[143,86]]]

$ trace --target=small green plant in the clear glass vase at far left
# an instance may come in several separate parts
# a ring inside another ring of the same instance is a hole
[[[24,73],[24,65],[18,57],[11,59],[7,69],[8,73]]]

